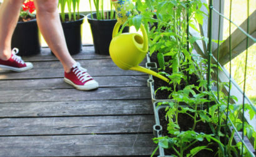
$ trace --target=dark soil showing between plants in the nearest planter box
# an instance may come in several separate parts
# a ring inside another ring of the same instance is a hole
[[[161,126],[163,126],[163,136],[170,136],[170,134],[168,134],[168,131],[166,130],[168,121],[165,120],[165,114],[166,114],[165,109],[160,109],[158,114],[159,114],[159,117],[160,117],[160,124],[161,124]],[[178,124],[181,128],[180,131],[187,131],[187,130],[189,130],[193,127],[193,119],[190,116],[188,116],[187,114],[179,114],[178,115]],[[198,122],[197,123],[197,125],[195,127],[195,131],[197,133],[205,133],[205,134],[211,134],[212,133],[212,130],[210,129],[208,124],[203,123],[203,122]],[[190,153],[190,150],[192,148],[195,148],[196,146],[207,146],[207,148],[213,150],[213,151],[210,151],[210,150],[203,149],[202,151],[199,151],[195,155],[197,157],[214,156],[215,153],[218,151],[218,144],[217,143],[208,144],[207,140],[203,140],[203,141],[198,141],[197,143],[193,144],[191,146],[191,148],[188,148],[184,152],[184,155]],[[176,148],[176,149],[178,149],[178,148]],[[176,154],[173,149],[165,149],[165,155],[171,155],[171,154]]]

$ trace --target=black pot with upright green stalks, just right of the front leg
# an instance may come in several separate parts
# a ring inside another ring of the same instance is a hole
[[[59,0],[61,24],[71,55],[80,53],[82,49],[81,26],[85,16],[79,13],[79,3],[80,0]],[[66,5],[68,13],[64,12]]]

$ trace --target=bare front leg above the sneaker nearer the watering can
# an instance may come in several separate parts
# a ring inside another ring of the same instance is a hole
[[[38,27],[49,48],[63,64],[64,71],[68,73],[76,61],[70,56],[66,46],[59,19],[58,0],[35,0],[34,4]]]

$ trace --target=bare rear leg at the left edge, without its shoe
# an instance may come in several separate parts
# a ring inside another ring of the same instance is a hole
[[[24,0],[5,0],[0,6],[0,59],[11,58],[11,38]]]

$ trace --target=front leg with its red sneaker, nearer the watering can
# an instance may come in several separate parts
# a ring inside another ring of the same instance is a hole
[[[58,13],[58,0],[34,0],[38,27],[49,48],[61,61],[64,81],[80,90],[98,88],[99,84],[70,56]]]

